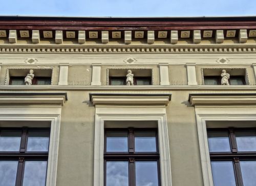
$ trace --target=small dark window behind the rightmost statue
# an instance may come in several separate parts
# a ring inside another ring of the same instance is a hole
[[[221,85],[221,76],[204,76],[204,85]],[[230,76],[229,85],[246,85],[244,76]]]

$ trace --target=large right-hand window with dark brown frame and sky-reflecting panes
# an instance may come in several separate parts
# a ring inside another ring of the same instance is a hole
[[[256,183],[256,128],[207,130],[215,186]]]

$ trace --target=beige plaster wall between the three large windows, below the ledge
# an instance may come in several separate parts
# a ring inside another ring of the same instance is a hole
[[[57,186],[93,185],[95,108],[89,91],[67,93],[61,112]],[[195,109],[187,102],[187,91],[171,93],[166,111],[173,185],[203,185]]]

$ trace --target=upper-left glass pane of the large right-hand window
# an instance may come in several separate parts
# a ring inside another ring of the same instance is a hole
[[[210,152],[230,152],[228,132],[208,132]]]

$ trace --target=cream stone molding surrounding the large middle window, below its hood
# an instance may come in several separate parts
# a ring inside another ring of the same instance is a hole
[[[161,185],[172,186],[166,109],[164,105],[95,105],[94,186],[104,184],[104,122],[156,121],[159,136]],[[122,122],[120,122],[121,124]]]

